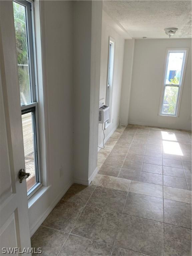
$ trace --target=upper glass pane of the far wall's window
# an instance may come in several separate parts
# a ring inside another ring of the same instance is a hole
[[[170,52],[168,57],[166,84],[179,84],[183,64],[183,52]]]

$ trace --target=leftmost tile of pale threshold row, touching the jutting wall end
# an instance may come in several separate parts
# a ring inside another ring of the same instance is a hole
[[[101,175],[101,174],[97,174],[97,175]],[[96,183],[97,186],[123,190],[123,191],[129,191],[130,184],[131,184],[131,180],[107,176],[107,175],[101,175],[101,177],[99,177]]]

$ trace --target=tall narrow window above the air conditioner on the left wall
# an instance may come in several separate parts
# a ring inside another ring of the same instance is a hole
[[[107,70],[107,88],[106,88],[106,105],[110,107],[110,118],[105,124],[111,122],[111,107],[112,107],[112,88],[113,88],[113,63],[114,63],[114,41],[109,40],[109,55],[108,55],[108,70]]]

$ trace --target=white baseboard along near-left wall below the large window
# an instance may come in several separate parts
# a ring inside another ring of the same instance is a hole
[[[73,180],[70,180],[63,189],[63,191],[55,198],[52,204],[47,208],[47,210],[37,219],[37,221],[33,224],[33,226],[30,229],[30,236],[32,236],[35,233],[35,231],[40,227],[40,225],[47,218],[47,216],[50,214],[50,212],[53,210],[53,208],[56,206],[56,204],[60,201],[60,199],[64,196],[64,194],[67,192],[67,190],[71,187],[73,183]]]

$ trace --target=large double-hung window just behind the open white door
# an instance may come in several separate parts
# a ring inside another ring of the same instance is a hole
[[[25,171],[28,195],[41,186],[40,140],[37,102],[33,6],[28,1],[13,1],[17,65],[23,126]]]

